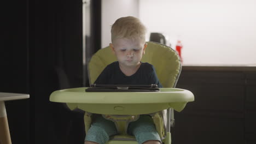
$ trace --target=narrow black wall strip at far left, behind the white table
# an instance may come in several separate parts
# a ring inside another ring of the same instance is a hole
[[[1,2],[0,92],[29,93],[26,1]],[[5,101],[11,140],[30,139],[30,100]]]

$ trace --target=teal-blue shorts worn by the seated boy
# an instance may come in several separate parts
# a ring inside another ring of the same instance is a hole
[[[91,124],[86,134],[85,141],[105,144],[109,140],[109,136],[117,134],[118,132],[114,122],[99,116],[95,119],[95,122]],[[148,140],[158,140],[161,143],[153,119],[148,115],[141,115],[137,121],[131,122],[127,129],[127,134],[134,135],[139,144]]]

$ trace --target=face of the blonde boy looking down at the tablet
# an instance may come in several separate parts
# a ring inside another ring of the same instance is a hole
[[[109,45],[112,47],[119,64],[124,67],[133,67],[140,64],[147,47],[147,44],[138,39],[116,39],[113,44]]]

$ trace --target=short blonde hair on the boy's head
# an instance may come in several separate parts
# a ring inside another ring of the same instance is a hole
[[[145,43],[146,31],[146,27],[138,18],[133,16],[121,17],[111,27],[111,40],[113,43],[115,39],[140,39]]]

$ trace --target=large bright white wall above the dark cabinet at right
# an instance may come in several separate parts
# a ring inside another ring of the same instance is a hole
[[[183,64],[256,64],[254,0],[139,0],[139,18],[182,40]]]

